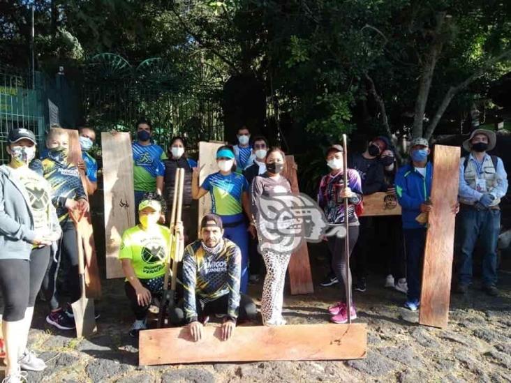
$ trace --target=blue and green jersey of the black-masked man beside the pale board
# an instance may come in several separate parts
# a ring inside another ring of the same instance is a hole
[[[133,142],[133,189],[143,192],[156,190],[156,177],[165,175],[162,160],[167,156],[159,145]]]

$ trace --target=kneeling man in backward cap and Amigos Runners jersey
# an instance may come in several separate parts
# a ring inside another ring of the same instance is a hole
[[[239,292],[242,254],[232,241],[222,238],[222,220],[207,214],[200,223],[202,239],[186,246],[183,255],[184,302],[171,315],[173,324],[188,324],[193,340],[202,338],[208,315],[224,315],[222,338],[227,340],[237,320],[255,320],[252,299]]]

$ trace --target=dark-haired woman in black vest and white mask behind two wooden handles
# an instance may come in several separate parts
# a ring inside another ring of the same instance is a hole
[[[174,200],[174,186],[176,169],[184,169],[184,190],[182,205],[182,220],[184,225],[184,235],[186,243],[195,241],[197,238],[197,216],[198,205],[193,201],[191,193],[192,169],[197,167],[197,162],[186,156],[186,144],[183,137],[173,137],[170,140],[168,158],[163,161],[165,166],[165,175],[163,177],[163,197],[167,201],[166,219],[170,222],[170,213],[172,213],[172,201]]]

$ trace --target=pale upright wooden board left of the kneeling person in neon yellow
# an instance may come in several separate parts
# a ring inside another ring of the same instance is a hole
[[[124,230],[135,226],[133,154],[129,133],[101,133],[105,198],[105,255],[107,278],[121,278],[119,246]]]

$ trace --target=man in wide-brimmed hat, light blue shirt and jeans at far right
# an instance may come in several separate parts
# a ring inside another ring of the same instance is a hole
[[[490,156],[496,135],[491,130],[476,129],[463,147],[468,156],[459,165],[459,227],[461,256],[457,292],[465,294],[472,282],[472,253],[479,238],[482,255],[482,288],[491,296],[498,295],[497,241],[501,226],[498,204],[508,191],[508,175],[501,158]]]

